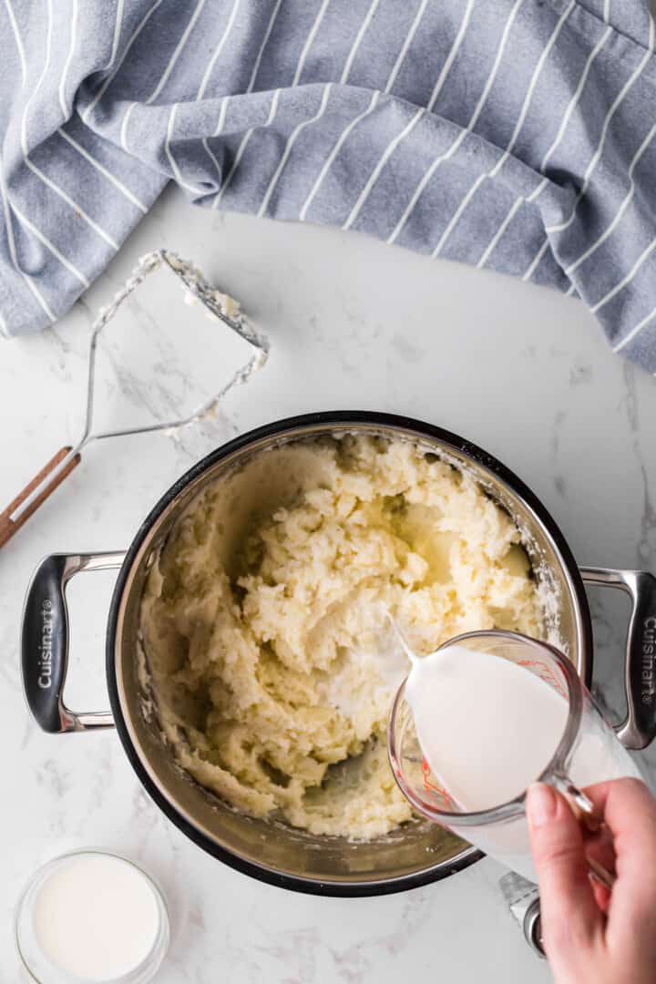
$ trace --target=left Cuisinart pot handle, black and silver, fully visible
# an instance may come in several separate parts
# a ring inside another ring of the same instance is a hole
[[[68,670],[69,616],[66,585],[81,571],[118,568],[124,553],[52,554],[36,568],[23,610],[23,688],[37,724],[51,734],[110,728],[109,711],[76,713],[64,704]]]

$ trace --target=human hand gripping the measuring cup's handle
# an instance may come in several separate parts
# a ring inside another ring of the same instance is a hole
[[[552,786],[531,786],[526,802],[542,938],[554,979],[654,984],[656,800],[638,779],[600,782],[585,792],[605,822],[585,838]],[[586,854],[615,871],[612,892],[590,881]]]

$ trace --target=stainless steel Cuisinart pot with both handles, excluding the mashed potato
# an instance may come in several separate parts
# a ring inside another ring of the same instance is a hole
[[[209,854],[272,885],[328,895],[399,892],[445,878],[481,853],[427,822],[370,843],[319,837],[245,817],[191,780],[173,762],[156,720],[143,712],[138,678],[139,607],[149,566],[174,523],[210,482],[287,442],[325,434],[367,433],[419,443],[473,474],[512,516],[537,579],[555,599],[551,617],[580,676],[592,677],[592,632],[583,583],[626,590],[632,612],[626,643],[626,721],[619,734],[642,748],[656,729],[656,579],[640,571],[579,571],[558,526],[536,496],[500,461],[430,424],[387,413],[313,413],[282,420],[231,441],[184,475],[157,503],[127,553],[55,554],[34,574],[23,621],[23,675],[30,710],[53,733],[115,726],[154,802]],[[250,492],[248,494],[251,494]],[[252,490],[262,498],[262,487]],[[238,531],[232,531],[238,535]],[[82,571],[120,568],[109,613],[106,674],[111,712],[74,712],[64,703],[69,624],[66,584]]]

